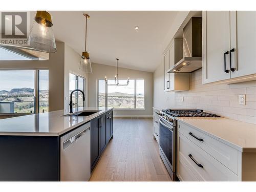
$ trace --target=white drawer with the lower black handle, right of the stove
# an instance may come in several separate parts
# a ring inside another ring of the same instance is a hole
[[[178,133],[178,153],[179,162],[184,162],[199,181],[238,181],[236,174],[181,133]]]

